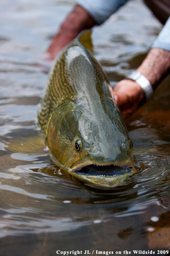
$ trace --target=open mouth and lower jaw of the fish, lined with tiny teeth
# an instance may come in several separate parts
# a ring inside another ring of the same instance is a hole
[[[118,165],[87,165],[71,171],[71,174],[85,184],[98,189],[112,189],[124,183],[130,176],[137,173],[128,164]]]

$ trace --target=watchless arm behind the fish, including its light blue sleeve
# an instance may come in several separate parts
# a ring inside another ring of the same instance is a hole
[[[127,0],[77,0],[73,12],[71,12],[61,25],[58,33],[52,39],[47,49],[48,60],[53,60],[55,56],[69,44],[83,29],[92,28],[96,24],[101,24],[114,13]],[[80,4],[80,5],[79,5]]]

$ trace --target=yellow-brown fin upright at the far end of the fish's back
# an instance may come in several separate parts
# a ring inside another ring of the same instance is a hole
[[[79,42],[86,47],[88,50],[90,50],[93,53],[93,44],[92,44],[92,40],[91,40],[91,29],[88,30],[84,30],[82,31],[77,39],[79,40]]]

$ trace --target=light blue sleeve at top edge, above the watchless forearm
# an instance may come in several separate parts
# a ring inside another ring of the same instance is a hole
[[[76,0],[100,25],[128,0]]]

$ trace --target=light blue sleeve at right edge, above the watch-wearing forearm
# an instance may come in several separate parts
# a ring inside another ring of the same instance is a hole
[[[161,48],[170,51],[170,17],[152,44],[152,48]]]

